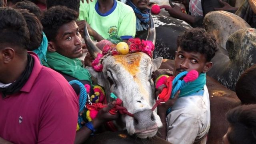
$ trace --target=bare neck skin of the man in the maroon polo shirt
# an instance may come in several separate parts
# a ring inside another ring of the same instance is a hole
[[[13,62],[13,66],[4,72],[4,74],[0,74],[0,82],[3,84],[10,84],[17,80],[22,72],[24,72],[27,63],[28,57],[27,55],[24,58],[20,58],[20,60],[16,60],[17,62]]]

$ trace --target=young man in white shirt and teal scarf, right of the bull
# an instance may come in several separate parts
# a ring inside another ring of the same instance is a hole
[[[177,39],[174,76],[180,72],[196,70],[198,79],[180,90],[179,96],[158,106],[163,122],[161,137],[173,144],[206,143],[210,128],[210,102],[206,87],[206,72],[212,67],[216,52],[216,40],[205,30],[194,28],[185,31]],[[171,107],[170,114],[166,111]],[[167,121],[166,121],[167,118]]]

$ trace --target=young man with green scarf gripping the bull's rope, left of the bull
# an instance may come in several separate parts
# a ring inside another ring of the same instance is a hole
[[[81,60],[82,37],[75,22],[78,14],[74,10],[64,6],[55,6],[43,13],[41,22],[48,38],[47,62],[45,66],[60,72],[66,80],[78,80],[83,84],[92,84],[89,71],[84,68]],[[74,87],[77,94],[79,87]],[[94,94],[91,86],[90,95]],[[118,115],[112,115],[108,111],[113,108],[115,102],[99,111],[97,117],[92,120],[93,128],[98,128],[106,121],[116,119]],[[84,143],[92,131],[84,126],[76,132],[76,144]]]

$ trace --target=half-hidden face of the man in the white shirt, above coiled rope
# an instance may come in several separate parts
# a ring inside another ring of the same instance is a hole
[[[204,54],[186,52],[180,47],[178,47],[174,64],[174,76],[177,76],[180,72],[189,72],[190,70],[196,70],[200,74],[201,72],[207,72],[212,66],[211,62],[206,62]]]

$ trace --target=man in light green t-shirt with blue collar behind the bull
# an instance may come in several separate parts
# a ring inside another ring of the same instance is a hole
[[[116,0],[80,2],[79,20],[88,24],[104,39],[117,34],[123,41],[136,33],[136,16],[130,6]]]

